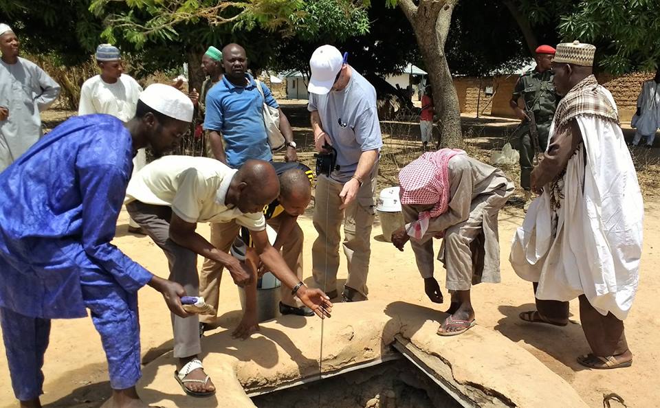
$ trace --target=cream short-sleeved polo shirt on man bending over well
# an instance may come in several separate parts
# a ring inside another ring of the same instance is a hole
[[[135,174],[126,188],[126,200],[167,205],[186,223],[228,223],[261,231],[263,213],[243,214],[225,197],[236,171],[216,159],[165,156]]]

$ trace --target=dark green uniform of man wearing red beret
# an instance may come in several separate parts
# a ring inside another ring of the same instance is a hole
[[[518,79],[516,88],[512,95],[512,100],[518,102],[522,96],[525,106],[520,106],[525,113],[531,111],[536,118],[536,131],[538,133],[538,148],[544,152],[548,146],[548,133],[552,117],[557,109],[557,102],[560,99],[555,93],[555,86],[552,83],[554,73],[548,69],[543,72],[528,71]],[[529,190],[529,174],[533,168],[533,158],[536,155],[531,135],[529,133],[529,120],[525,119],[520,127],[514,133],[514,138],[518,141],[518,150],[520,151],[520,186]]]

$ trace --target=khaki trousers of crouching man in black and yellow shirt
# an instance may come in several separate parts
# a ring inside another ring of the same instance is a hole
[[[279,231],[281,219],[279,217],[272,218],[266,221],[268,225],[273,227],[275,231]],[[220,251],[229,252],[232,243],[239,236],[241,227],[234,223],[212,223],[211,224],[211,245]],[[292,231],[287,236],[284,245],[282,245],[282,256],[291,269],[298,276],[299,280],[303,280],[303,230],[296,224]],[[204,297],[206,303],[210,304],[218,310],[220,302],[220,282],[222,279],[222,271],[224,267],[219,262],[214,260],[205,259],[199,277],[199,293]],[[300,303],[296,297],[291,294],[291,289],[287,286],[281,286],[281,300],[283,304],[288,306],[298,307]],[[203,315],[199,317],[203,323],[212,323],[215,320],[214,316]]]

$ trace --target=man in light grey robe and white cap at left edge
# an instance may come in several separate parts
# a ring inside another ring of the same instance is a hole
[[[19,38],[0,24],[0,172],[43,135],[39,113],[60,95],[43,69],[19,57]]]

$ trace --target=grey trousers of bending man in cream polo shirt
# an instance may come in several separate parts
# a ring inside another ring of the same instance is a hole
[[[165,253],[170,266],[169,280],[184,286],[186,295],[199,296],[197,253],[170,240],[172,209],[166,205],[151,205],[133,201],[126,205],[131,218],[144,229],[153,242]],[[199,317],[179,317],[172,313],[174,356],[184,358],[201,352]]]

